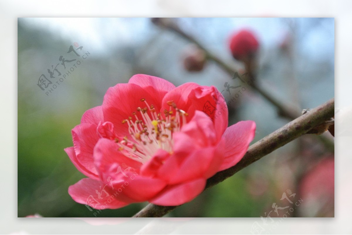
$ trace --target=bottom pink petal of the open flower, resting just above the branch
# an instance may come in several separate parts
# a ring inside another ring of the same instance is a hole
[[[169,185],[149,202],[164,206],[181,205],[198,196],[205,184],[206,179],[196,179],[184,184]]]

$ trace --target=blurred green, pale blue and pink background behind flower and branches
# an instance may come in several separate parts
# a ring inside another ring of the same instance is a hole
[[[256,84],[290,107],[314,108],[334,97],[333,18],[165,20],[239,74],[250,67]],[[242,30],[250,31],[258,46],[238,56],[230,44]],[[71,129],[84,111],[101,105],[108,87],[127,83],[134,74],[162,77],[176,86],[190,81],[214,85],[227,102],[236,97],[229,105],[229,125],[254,120],[253,143],[290,121],[250,86],[241,93],[227,90],[241,81],[206,61],[206,55],[150,18],[19,18],[18,217],[95,217],[94,210],[67,192],[85,176],[63,149],[73,146]],[[130,217],[146,204],[107,209],[98,216]],[[167,216],[262,216],[270,223],[268,215],[284,214],[334,216],[334,147],[328,132],[323,139],[306,135],[285,145]]]

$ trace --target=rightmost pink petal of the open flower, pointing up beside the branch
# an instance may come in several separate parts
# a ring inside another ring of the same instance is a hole
[[[241,121],[228,127],[223,135],[226,141],[225,159],[219,171],[237,164],[248,150],[249,144],[254,139],[256,123]]]

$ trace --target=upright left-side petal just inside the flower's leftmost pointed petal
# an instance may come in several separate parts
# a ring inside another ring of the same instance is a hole
[[[78,162],[93,174],[98,175],[93,159],[93,149],[99,139],[96,128],[95,124],[77,125],[72,129],[72,138]]]

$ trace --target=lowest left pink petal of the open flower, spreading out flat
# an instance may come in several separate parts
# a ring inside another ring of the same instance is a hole
[[[107,184],[90,178],[84,178],[71,185],[68,193],[78,203],[89,205],[97,210],[117,209],[133,203]]]

